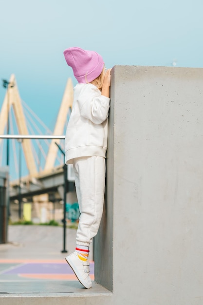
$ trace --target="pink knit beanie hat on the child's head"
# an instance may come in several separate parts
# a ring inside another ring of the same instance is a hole
[[[73,47],[66,49],[63,54],[67,64],[72,67],[78,83],[91,82],[101,74],[104,68],[101,55],[94,51]]]

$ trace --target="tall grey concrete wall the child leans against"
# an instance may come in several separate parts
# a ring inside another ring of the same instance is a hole
[[[115,66],[95,280],[111,304],[203,304],[203,69]]]

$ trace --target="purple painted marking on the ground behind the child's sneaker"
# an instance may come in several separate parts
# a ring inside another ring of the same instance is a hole
[[[2,274],[70,274],[72,268],[63,263],[28,263],[18,265]],[[94,273],[94,263],[90,263],[90,273]]]

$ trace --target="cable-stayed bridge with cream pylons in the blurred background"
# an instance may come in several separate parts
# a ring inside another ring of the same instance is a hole
[[[0,110],[0,168],[9,167],[10,202],[33,202],[34,196],[50,192],[52,199],[63,199],[64,134],[73,104],[71,78],[53,132],[21,99],[15,75],[3,80],[3,85],[7,90]]]

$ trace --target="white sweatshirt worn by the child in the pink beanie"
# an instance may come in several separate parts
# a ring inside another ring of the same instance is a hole
[[[74,87],[74,103],[65,137],[65,162],[74,158],[106,156],[110,98],[92,84]]]

